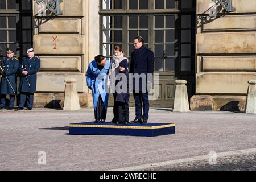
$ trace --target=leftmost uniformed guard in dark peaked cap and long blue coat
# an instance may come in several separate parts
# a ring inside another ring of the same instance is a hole
[[[7,55],[3,58],[0,63],[0,109],[5,109],[6,105],[6,95],[10,96],[10,103],[8,110],[14,107],[14,98],[16,90],[16,73],[19,68],[19,60],[14,57],[14,51],[7,48]]]

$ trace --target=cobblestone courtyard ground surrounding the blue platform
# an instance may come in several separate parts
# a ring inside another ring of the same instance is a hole
[[[130,120],[134,119],[130,109]],[[108,109],[107,121],[113,117]],[[69,135],[69,123],[93,121],[92,109],[0,111],[0,170],[111,170],[256,147],[256,115],[225,111],[172,113],[150,109],[149,122],[175,123],[176,134],[159,137]],[[46,165],[39,165],[39,151]],[[255,170],[251,154],[166,165],[154,170]],[[221,168],[223,164],[233,166]],[[236,166],[238,165],[238,166]],[[247,165],[247,166],[246,166]]]

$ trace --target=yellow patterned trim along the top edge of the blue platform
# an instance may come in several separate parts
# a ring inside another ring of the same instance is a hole
[[[108,128],[108,129],[145,129],[145,130],[152,130],[152,129],[163,129],[165,127],[173,127],[175,124],[168,124],[168,125],[161,125],[161,126],[112,126],[112,125],[72,125],[70,124],[69,127],[100,127],[100,128]]]

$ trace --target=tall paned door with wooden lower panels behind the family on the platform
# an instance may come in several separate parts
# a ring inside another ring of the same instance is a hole
[[[195,80],[195,0],[101,1],[100,52],[112,57],[119,44],[130,59],[133,39],[142,36],[154,52],[159,73],[159,98],[154,106],[172,107],[175,79],[188,81],[188,96]]]

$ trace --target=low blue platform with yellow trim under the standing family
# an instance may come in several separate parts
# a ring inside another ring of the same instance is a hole
[[[126,135],[155,137],[159,135],[175,134],[175,124],[168,123],[147,123],[142,124],[113,124],[110,122],[94,123],[71,123],[69,125],[71,135]]]

